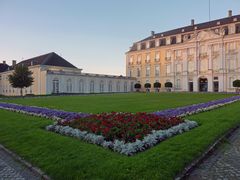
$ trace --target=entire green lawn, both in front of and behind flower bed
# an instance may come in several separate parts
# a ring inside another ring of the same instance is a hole
[[[225,96],[184,93],[131,94],[129,98],[127,95],[72,96],[18,99],[16,102],[48,107],[53,107],[53,104],[58,102],[54,108],[85,112],[100,112],[109,108],[111,108],[109,111],[135,112],[154,111],[166,108],[167,105],[175,107]],[[81,107],[80,104],[83,105],[84,102],[80,100],[85,100],[87,107],[86,105]],[[118,105],[118,101],[121,105]],[[95,102],[95,105],[91,105],[90,102]],[[106,102],[117,104],[111,106]],[[240,123],[239,108],[240,102],[237,102],[190,116],[188,119],[197,121],[201,126],[132,157],[45,131],[44,127],[52,123],[50,120],[5,110],[0,110],[0,143],[41,168],[53,179],[172,179],[217,137]]]

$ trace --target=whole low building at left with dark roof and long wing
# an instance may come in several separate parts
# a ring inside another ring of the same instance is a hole
[[[24,94],[58,94],[58,93],[113,93],[131,92],[136,78],[83,73],[56,53],[48,53],[12,65],[6,61],[0,63],[0,94],[19,96],[20,90],[13,88],[8,75],[13,73],[14,66],[26,65],[33,72],[33,85],[23,90]]]

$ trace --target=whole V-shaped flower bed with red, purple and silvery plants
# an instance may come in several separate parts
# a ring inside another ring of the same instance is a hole
[[[0,109],[57,120],[46,129],[101,145],[121,154],[133,155],[197,126],[196,122],[183,121],[180,117],[215,109],[238,100],[240,96],[233,96],[151,114],[93,115],[9,103],[0,103]]]

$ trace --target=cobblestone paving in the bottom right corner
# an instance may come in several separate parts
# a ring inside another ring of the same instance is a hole
[[[187,178],[190,180],[240,179],[240,129],[200,164]]]

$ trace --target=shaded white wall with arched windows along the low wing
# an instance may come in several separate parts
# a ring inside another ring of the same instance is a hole
[[[59,91],[54,92],[54,80],[59,82]],[[71,88],[67,82],[71,82]],[[91,83],[94,86],[91,89]],[[109,84],[112,88],[109,88]],[[111,93],[111,92],[131,92],[136,80],[124,77],[105,77],[91,75],[64,75],[64,74],[47,74],[47,94],[51,93]],[[119,85],[118,85],[119,84]],[[82,87],[83,85],[83,87]],[[100,87],[101,86],[101,87]],[[118,87],[117,87],[118,86]],[[132,86],[132,88],[131,88]]]

